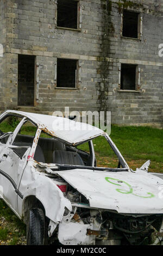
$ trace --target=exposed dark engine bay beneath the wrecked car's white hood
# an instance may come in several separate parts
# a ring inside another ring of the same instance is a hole
[[[65,209],[63,220],[67,223],[87,225],[85,237],[92,237],[92,245],[149,245],[154,242],[162,224],[162,215],[123,215],[111,210],[92,209],[89,200],[82,193],[58,175],[55,178],[53,176],[53,179],[73,206],[71,213]],[[53,236],[57,233],[58,228]],[[65,245],[69,243],[65,242]],[[77,244],[84,245],[82,241]]]

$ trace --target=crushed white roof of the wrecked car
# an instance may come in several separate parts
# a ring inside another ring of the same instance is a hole
[[[72,145],[80,144],[104,133],[103,130],[97,127],[68,118],[14,110],[5,111],[4,114],[6,113],[19,114],[27,117],[37,124],[41,130]]]

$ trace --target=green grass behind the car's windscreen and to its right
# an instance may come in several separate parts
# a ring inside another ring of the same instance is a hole
[[[138,161],[142,164],[151,160],[151,171],[163,172],[163,129],[143,126],[112,126],[110,137],[127,162]],[[104,137],[93,139],[93,144],[97,160],[101,160],[101,157],[109,157],[109,161],[116,159],[114,152],[109,150],[108,142]],[[88,150],[86,144],[80,145],[79,148]],[[113,167],[116,167],[115,163]]]

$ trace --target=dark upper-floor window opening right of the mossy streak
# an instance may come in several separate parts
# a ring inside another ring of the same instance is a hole
[[[123,36],[128,38],[138,38],[138,17],[139,13],[134,13],[134,11],[123,11]]]

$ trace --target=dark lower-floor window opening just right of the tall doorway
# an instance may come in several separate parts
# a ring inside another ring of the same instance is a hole
[[[57,60],[57,87],[76,88],[77,60]]]

